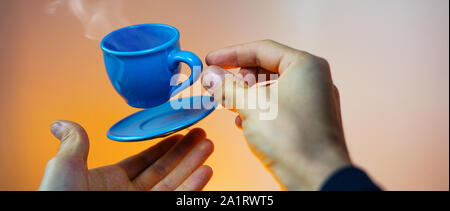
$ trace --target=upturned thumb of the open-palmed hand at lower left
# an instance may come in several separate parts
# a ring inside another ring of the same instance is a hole
[[[57,120],[50,126],[50,131],[61,141],[59,155],[76,156],[87,160],[89,138],[83,127],[75,122]]]

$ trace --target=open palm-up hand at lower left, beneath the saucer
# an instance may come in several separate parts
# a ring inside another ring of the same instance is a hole
[[[55,121],[51,132],[61,140],[46,167],[39,190],[201,190],[212,176],[202,165],[213,143],[202,129],[174,135],[116,164],[88,169],[89,139],[69,121]]]

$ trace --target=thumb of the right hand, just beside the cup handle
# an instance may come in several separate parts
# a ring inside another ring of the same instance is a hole
[[[246,96],[249,89],[244,80],[221,67],[209,66],[203,73],[202,85],[225,108],[243,117],[248,115]]]

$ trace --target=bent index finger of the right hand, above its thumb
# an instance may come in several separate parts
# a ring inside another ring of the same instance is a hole
[[[262,67],[282,74],[290,64],[306,54],[272,40],[262,40],[213,51],[205,60],[207,65],[222,68]]]

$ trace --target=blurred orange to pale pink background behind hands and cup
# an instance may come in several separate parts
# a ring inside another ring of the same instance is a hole
[[[0,190],[37,189],[58,148],[49,132],[55,119],[87,129],[91,168],[156,142],[106,138],[137,109],[108,81],[99,41],[64,6],[48,14],[50,2],[0,0]],[[131,24],[173,25],[182,48],[201,58],[260,39],[326,58],[353,161],[388,190],[449,189],[447,0],[123,2]],[[215,143],[206,190],[279,190],[234,117],[217,110],[195,125]]]

